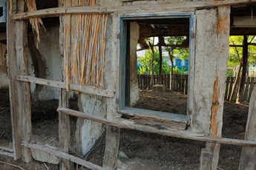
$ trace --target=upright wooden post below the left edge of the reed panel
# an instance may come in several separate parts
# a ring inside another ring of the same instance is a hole
[[[59,106],[69,107],[68,92],[65,89],[61,89],[59,96]],[[70,120],[69,115],[59,112],[59,151],[69,153],[70,146]],[[71,163],[69,160],[59,159],[59,169],[71,169]]]

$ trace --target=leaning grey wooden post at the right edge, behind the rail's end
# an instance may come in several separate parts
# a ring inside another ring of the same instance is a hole
[[[250,104],[249,114],[246,124],[245,140],[256,140],[256,87],[253,89]],[[255,170],[256,169],[256,146],[244,146],[239,163],[239,170]]]

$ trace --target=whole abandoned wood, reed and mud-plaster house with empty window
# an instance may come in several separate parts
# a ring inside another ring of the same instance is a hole
[[[0,143],[0,154],[56,163],[59,169],[73,169],[74,163],[121,169],[120,129],[131,129],[203,141],[200,169],[217,169],[220,144],[240,146],[239,169],[255,169],[256,91],[246,135],[222,137],[229,35],[256,35],[255,0],[0,2],[7,16],[0,18],[6,23],[0,24],[0,86],[9,84],[12,126],[12,148]],[[158,37],[160,50],[174,47],[165,44],[165,36],[187,37],[180,45],[189,49],[186,115],[134,107],[140,94],[137,44],[149,48],[145,38]],[[70,107],[74,97],[79,109]],[[53,138],[45,139],[44,132],[33,133],[31,106],[53,99],[59,100],[59,118]],[[78,156],[90,152],[103,133],[102,165]]]

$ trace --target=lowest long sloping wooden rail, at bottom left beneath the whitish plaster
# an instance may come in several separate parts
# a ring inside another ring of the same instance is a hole
[[[73,163],[77,163],[81,166],[85,166],[88,169],[107,170],[107,169],[102,168],[101,166],[97,166],[97,165],[95,165],[93,163],[90,163],[86,160],[82,160],[79,157],[75,157],[71,154],[66,154],[65,152],[60,152],[60,151],[58,151],[56,149],[53,149],[51,147],[48,147],[48,146],[42,146],[42,145],[39,145],[39,144],[36,144],[36,143],[25,143],[25,142],[22,142],[22,146],[30,148],[30,149],[36,149],[36,150],[39,150],[39,151],[42,151],[42,152],[46,152],[48,154],[53,154],[56,157],[62,157],[65,160],[70,160]]]

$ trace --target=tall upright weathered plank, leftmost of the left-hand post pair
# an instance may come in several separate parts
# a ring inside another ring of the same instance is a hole
[[[15,21],[11,18],[16,13],[16,1],[7,1],[7,54],[8,54],[8,72],[10,78],[9,94],[10,94],[10,115],[12,120],[12,134],[13,134],[13,156],[14,160],[18,160],[22,157],[22,146],[21,143],[21,116],[17,113],[16,98],[16,75],[18,74],[18,67],[16,63],[16,49],[15,49]]]

